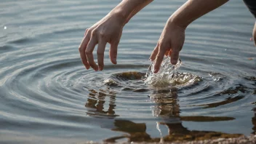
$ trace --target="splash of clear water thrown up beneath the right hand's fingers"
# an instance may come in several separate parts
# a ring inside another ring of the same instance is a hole
[[[148,68],[145,75],[145,84],[153,86],[166,86],[170,84],[171,79],[175,76],[175,72],[180,68],[181,60],[179,59],[176,65],[170,63],[170,57],[164,57],[161,63],[161,67],[158,73],[153,73],[154,65],[156,61],[154,60]]]

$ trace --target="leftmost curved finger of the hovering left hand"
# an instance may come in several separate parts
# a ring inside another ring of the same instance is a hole
[[[81,41],[81,44],[79,46],[79,53],[80,53],[81,61],[84,64],[85,68],[87,68],[87,69],[89,69],[89,63],[87,63],[85,49],[87,48],[88,42],[89,42],[89,34],[86,34],[86,36],[84,36],[84,39]]]

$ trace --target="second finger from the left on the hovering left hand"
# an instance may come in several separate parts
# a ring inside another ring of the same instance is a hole
[[[97,65],[95,63],[95,60],[93,59],[93,49],[95,49],[95,45],[97,44],[97,41],[95,41],[95,39],[90,39],[89,43],[87,45],[87,49],[85,50],[85,54],[87,56],[87,61],[89,63],[89,65],[95,70],[97,71]]]

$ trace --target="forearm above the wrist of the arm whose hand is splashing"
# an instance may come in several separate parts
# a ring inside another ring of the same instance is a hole
[[[170,17],[169,21],[186,28],[193,20],[225,4],[228,0],[188,0]]]

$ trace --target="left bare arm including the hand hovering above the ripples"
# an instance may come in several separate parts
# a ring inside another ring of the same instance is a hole
[[[111,44],[109,52],[111,62],[116,64],[117,47],[124,25],[151,1],[153,0],[123,0],[108,15],[87,29],[79,46],[81,61],[87,69],[92,67],[95,71],[103,70],[105,45],[107,43]],[[97,44],[98,65],[92,55]]]

